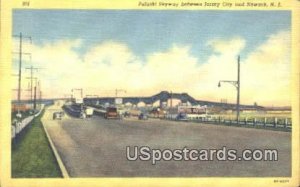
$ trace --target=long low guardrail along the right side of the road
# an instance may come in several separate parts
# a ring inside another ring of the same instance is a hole
[[[166,120],[172,121],[181,121],[177,120],[173,116],[166,116]],[[222,117],[211,117],[211,118],[194,118],[187,119],[186,122],[196,122],[196,123],[209,123],[216,125],[228,125],[228,126],[243,126],[243,127],[255,127],[255,128],[264,128],[264,129],[273,129],[273,130],[283,130],[291,131],[292,121],[291,118],[244,118],[239,121],[234,119],[222,118]]]

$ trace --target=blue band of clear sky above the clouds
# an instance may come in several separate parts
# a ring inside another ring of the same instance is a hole
[[[144,57],[176,43],[191,45],[192,54],[202,60],[211,53],[205,45],[211,38],[243,37],[244,56],[291,25],[289,11],[15,10],[13,20],[14,33],[23,32],[37,43],[83,39],[80,53],[114,40]]]

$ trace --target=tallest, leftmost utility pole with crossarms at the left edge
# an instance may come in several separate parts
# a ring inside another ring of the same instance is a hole
[[[31,37],[23,36],[20,32],[20,35],[14,35],[13,37],[19,37],[20,43],[19,43],[19,74],[18,74],[18,114],[20,113],[20,106],[21,106],[21,83],[22,83],[22,55],[31,55],[30,53],[23,53],[22,51],[22,43],[23,38],[29,38],[31,43]],[[15,52],[14,52],[15,53]]]

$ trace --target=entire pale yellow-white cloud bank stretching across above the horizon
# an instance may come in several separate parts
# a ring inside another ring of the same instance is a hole
[[[32,64],[48,97],[84,88],[85,94],[113,95],[116,88],[128,95],[152,95],[161,90],[188,92],[198,99],[235,102],[235,88],[219,80],[236,80],[236,61],[246,46],[240,37],[207,42],[212,54],[206,62],[191,55],[191,46],[174,44],[166,51],[148,54],[143,61],[125,44],[107,41],[83,56],[81,40],[32,45]],[[242,103],[289,104],[290,33],[270,36],[247,57],[241,58]]]

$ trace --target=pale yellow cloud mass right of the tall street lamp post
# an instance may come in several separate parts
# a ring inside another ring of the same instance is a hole
[[[290,33],[280,32],[249,54],[243,62],[245,100],[288,105],[290,101]],[[249,100],[248,99],[248,100]]]

